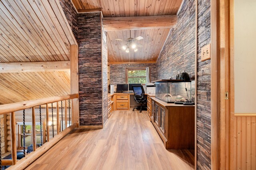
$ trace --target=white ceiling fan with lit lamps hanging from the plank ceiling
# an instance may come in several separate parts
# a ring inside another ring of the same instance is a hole
[[[143,47],[141,44],[136,43],[135,41],[139,41],[143,39],[142,36],[136,37],[136,38],[132,38],[131,37],[131,30],[130,30],[130,38],[123,40],[123,39],[116,39],[117,41],[126,41],[126,45],[122,46],[122,49],[125,50],[126,53],[130,52],[130,49],[134,49],[134,52],[138,51],[138,48]]]

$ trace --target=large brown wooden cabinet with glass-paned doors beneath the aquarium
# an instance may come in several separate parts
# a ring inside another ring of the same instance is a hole
[[[194,106],[167,104],[152,97],[150,112],[150,121],[166,149],[194,149]]]

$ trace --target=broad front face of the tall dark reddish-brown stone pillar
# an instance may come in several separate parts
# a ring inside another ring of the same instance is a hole
[[[80,125],[102,125],[101,13],[78,14]]]

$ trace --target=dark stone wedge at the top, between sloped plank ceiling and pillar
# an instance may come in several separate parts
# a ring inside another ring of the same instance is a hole
[[[77,16],[78,16],[78,14],[76,12],[76,9],[75,9],[74,5],[72,4],[71,0],[59,0],[59,1],[60,1],[62,10],[68,20],[68,23],[74,33],[76,41],[77,41],[77,37],[78,37]]]

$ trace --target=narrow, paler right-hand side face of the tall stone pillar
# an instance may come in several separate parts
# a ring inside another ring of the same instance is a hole
[[[108,119],[108,46],[107,33],[102,26],[102,80],[103,80],[103,123]]]

